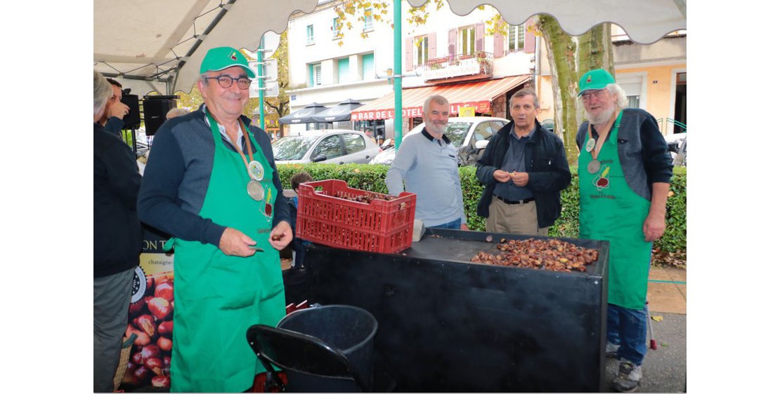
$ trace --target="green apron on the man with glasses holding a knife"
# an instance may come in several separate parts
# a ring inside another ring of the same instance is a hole
[[[246,329],[258,323],[275,326],[285,315],[279,254],[268,242],[277,192],[274,172],[257,150],[254,160],[264,169],[265,198],[252,199],[246,192],[250,177],[243,159],[222,143],[217,122],[211,115],[208,118],[214,135],[214,166],[199,214],[252,237],[264,252],[228,256],[212,244],[173,240],[172,392],[249,389],[264,368],[246,342]],[[251,134],[245,143],[250,141],[260,146]]]

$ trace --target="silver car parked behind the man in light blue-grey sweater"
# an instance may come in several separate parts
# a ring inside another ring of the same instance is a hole
[[[504,127],[508,120],[488,116],[449,118],[444,134],[452,141],[452,146],[458,150],[458,165],[469,166],[477,163],[482,156],[488,140]],[[417,125],[406,136],[422,132],[425,123]],[[392,164],[395,159],[395,148],[379,153],[371,164]]]

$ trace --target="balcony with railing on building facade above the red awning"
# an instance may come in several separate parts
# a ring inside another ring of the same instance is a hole
[[[423,70],[425,82],[456,82],[493,76],[493,54],[475,51],[428,60]]]

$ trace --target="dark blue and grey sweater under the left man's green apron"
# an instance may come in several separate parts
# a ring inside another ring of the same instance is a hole
[[[184,241],[200,241],[219,247],[222,232],[230,223],[214,223],[201,217],[206,199],[211,169],[214,164],[214,137],[204,120],[203,106],[198,111],[165,121],[156,135],[144,169],[144,182],[138,195],[140,219]],[[260,128],[250,125],[250,119],[240,118],[274,169],[273,182],[277,190],[274,202],[273,226],[282,220],[290,223],[289,207],[282,195],[282,182],[274,163],[271,139]],[[222,143],[234,150],[224,137]],[[252,144],[244,143],[246,146]],[[256,153],[255,151],[253,151]]]

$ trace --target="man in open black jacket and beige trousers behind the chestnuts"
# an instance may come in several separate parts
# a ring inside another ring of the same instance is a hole
[[[542,127],[539,99],[530,89],[509,99],[512,121],[490,139],[477,178],[485,185],[477,214],[491,233],[548,234],[561,215],[561,191],[572,174],[563,142]]]

